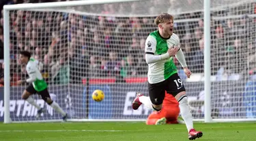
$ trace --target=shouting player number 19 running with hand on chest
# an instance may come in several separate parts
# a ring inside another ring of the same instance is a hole
[[[177,68],[173,62],[173,56],[177,58],[186,76],[191,75],[186,65],[184,54],[180,48],[180,39],[173,33],[173,16],[164,13],[155,19],[158,31],[150,33],[145,41],[145,60],[148,64],[148,89],[150,97],[138,93],[132,102],[132,108],[137,110],[141,104],[156,111],[162,109],[162,100],[165,91],[172,94],[180,106],[180,114],[186,123],[189,140],[200,138],[202,132],[197,132],[193,127],[193,117],[188,106],[185,87],[177,75]]]

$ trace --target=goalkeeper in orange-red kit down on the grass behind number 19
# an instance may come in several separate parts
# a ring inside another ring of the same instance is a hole
[[[176,124],[184,121],[179,117],[180,108],[177,100],[165,92],[165,99],[162,102],[162,109],[157,112],[154,111],[147,117],[147,125],[163,125],[163,124]]]

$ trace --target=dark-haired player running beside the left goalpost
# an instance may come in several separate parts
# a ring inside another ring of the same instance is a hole
[[[41,108],[37,103],[35,103],[35,100],[31,98],[32,94],[40,94],[42,99],[50,106],[52,106],[57,112],[61,113],[63,116],[63,121],[66,121],[68,118],[68,114],[65,113],[61,107],[59,107],[59,104],[51,100],[50,94],[47,89],[47,84],[42,78],[42,75],[38,69],[38,61],[31,58],[31,54],[27,51],[20,52],[20,62],[22,64],[27,64],[26,71],[29,75],[29,79],[27,80],[19,80],[17,82],[18,85],[22,83],[31,83],[27,89],[24,90],[23,95],[21,96],[23,100],[27,100],[29,104],[35,106],[35,108],[38,109],[38,114],[36,117],[40,117],[42,112],[44,111],[44,108]]]

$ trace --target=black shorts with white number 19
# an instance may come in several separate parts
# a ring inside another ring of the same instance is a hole
[[[171,75],[171,77],[165,81],[154,84],[148,83],[147,86],[150,100],[152,104],[155,105],[162,104],[162,101],[165,99],[165,91],[167,91],[167,94],[171,94],[173,96],[176,96],[180,92],[186,91],[182,80],[180,79],[179,75],[177,75],[177,73]]]

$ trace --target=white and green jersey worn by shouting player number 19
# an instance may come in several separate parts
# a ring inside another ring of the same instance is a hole
[[[160,36],[159,31],[154,31],[145,41],[145,53],[158,56],[166,54],[167,50],[173,46],[180,46],[180,39],[177,35],[173,33],[169,39],[165,39]],[[177,73],[177,67],[171,57],[148,64],[147,79],[149,83],[159,83],[175,73]]]

